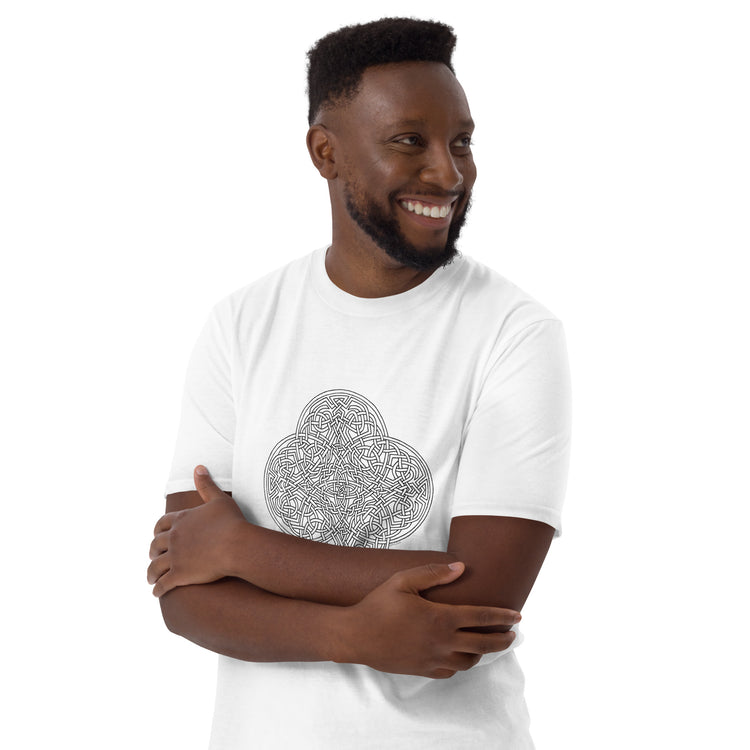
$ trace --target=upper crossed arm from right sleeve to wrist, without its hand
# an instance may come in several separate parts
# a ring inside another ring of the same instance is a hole
[[[423,593],[434,602],[520,611],[542,566],[554,529],[520,518],[463,516],[451,524],[448,550],[391,550],[311,542],[251,524],[231,545],[233,575],[283,596],[349,605],[393,573],[460,560],[466,572]]]

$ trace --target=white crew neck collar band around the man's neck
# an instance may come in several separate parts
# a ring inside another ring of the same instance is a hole
[[[319,248],[311,257],[310,275],[315,290],[326,304],[339,312],[361,317],[403,313],[422,305],[441,289],[462,265],[462,257],[459,255],[450,265],[438,268],[421,284],[406,292],[391,294],[387,297],[356,297],[337,287],[328,276],[326,253],[329,247],[330,245],[326,245]]]

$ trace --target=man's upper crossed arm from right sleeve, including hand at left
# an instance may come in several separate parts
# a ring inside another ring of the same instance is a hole
[[[168,513],[157,524],[149,569],[157,596],[232,576],[281,596],[347,606],[400,570],[460,561],[466,566],[461,579],[431,589],[427,598],[520,611],[554,534],[525,518],[459,516],[446,551],[343,547],[248,523],[208,474],[196,472],[195,483],[204,504]]]

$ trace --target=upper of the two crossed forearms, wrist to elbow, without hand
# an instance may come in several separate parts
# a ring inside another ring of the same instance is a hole
[[[294,599],[356,604],[394,573],[427,563],[455,562],[431,550],[392,550],[322,544],[246,524],[227,555],[231,575]]]

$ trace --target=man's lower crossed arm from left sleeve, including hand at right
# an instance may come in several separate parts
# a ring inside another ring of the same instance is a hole
[[[197,492],[177,493],[168,496],[167,510],[201,502]],[[450,677],[482,654],[506,649],[514,637],[465,629],[516,621],[510,610],[437,604],[419,595],[461,572],[460,565],[403,571],[349,607],[277,596],[237,579],[177,587],[160,602],[173,633],[236,659],[335,661]]]

